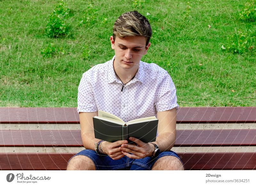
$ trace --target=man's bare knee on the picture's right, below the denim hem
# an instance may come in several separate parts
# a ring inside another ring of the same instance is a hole
[[[184,170],[184,167],[177,157],[164,156],[156,160],[151,170]]]

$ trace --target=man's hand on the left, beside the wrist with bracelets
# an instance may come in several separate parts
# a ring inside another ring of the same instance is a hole
[[[110,158],[116,160],[116,159],[123,158],[125,156],[122,153],[122,151],[119,149],[119,147],[122,144],[126,144],[126,143],[128,143],[127,140],[119,140],[113,143],[103,141],[101,142],[101,149],[103,153],[107,154]]]

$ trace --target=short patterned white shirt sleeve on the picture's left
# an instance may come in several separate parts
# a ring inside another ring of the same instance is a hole
[[[77,112],[96,112],[98,110],[94,99],[91,83],[88,81],[88,74],[85,72],[78,86]]]

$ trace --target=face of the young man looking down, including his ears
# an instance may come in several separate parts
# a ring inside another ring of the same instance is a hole
[[[138,69],[140,59],[148,51],[150,43],[146,46],[146,38],[143,36],[127,36],[124,38],[110,37],[111,48],[115,50],[115,68],[125,70]]]

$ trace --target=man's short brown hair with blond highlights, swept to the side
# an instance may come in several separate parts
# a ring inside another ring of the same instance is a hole
[[[144,36],[146,37],[146,46],[149,43],[152,35],[152,30],[148,19],[137,11],[125,12],[118,19],[113,26],[113,38],[124,38],[126,36]]]

